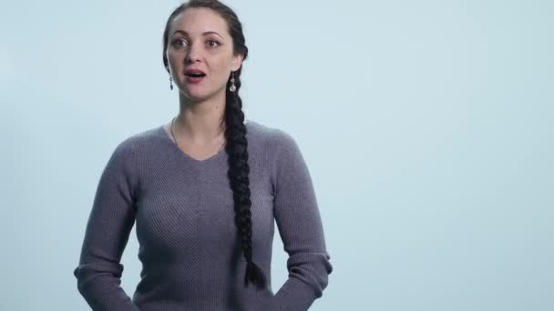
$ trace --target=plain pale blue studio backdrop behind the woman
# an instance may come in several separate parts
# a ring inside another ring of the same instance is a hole
[[[247,118],[313,177],[334,270],[311,310],[554,309],[553,2],[225,3]],[[161,35],[179,4],[3,1],[0,310],[89,309],[72,273],[100,173],[178,112]]]

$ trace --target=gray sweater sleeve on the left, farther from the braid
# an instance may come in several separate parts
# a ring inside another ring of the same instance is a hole
[[[73,274],[77,289],[93,311],[139,311],[121,284],[120,259],[135,223],[139,184],[136,155],[130,140],[121,142],[102,172]]]

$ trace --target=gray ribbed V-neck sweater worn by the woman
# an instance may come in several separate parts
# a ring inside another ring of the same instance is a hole
[[[275,221],[289,255],[282,287],[244,286],[225,149],[193,159],[160,125],[120,142],[99,178],[73,272],[93,310],[305,311],[322,296],[333,266],[301,151],[280,129],[246,126],[252,258],[271,284]],[[142,270],[131,298],[120,259],[135,223]]]

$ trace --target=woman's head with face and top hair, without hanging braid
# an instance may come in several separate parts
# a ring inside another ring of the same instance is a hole
[[[241,23],[219,1],[190,1],[170,16],[163,34],[163,63],[180,92],[192,100],[225,94],[231,73],[240,75],[248,55]],[[202,71],[190,83],[187,70]]]

